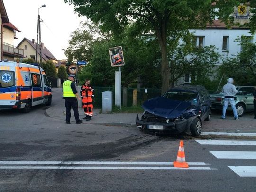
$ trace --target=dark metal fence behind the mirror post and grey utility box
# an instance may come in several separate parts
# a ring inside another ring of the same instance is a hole
[[[115,88],[114,87],[93,87],[94,88],[94,107],[102,107],[102,92],[112,92],[112,106],[115,105]],[[123,106],[126,100],[127,106],[133,105],[133,90],[134,88],[127,88],[127,94],[124,98],[123,88],[121,89],[121,103]],[[161,89],[137,89],[137,105],[140,106],[145,100],[161,95]]]

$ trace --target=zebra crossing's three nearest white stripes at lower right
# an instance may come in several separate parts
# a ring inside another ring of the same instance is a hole
[[[201,145],[217,145],[217,146],[233,146],[232,151],[227,150],[210,150],[209,152],[218,159],[256,159],[256,151],[236,151],[235,146],[256,146],[256,141],[254,140],[195,140]],[[254,161],[255,164],[256,161]],[[256,165],[256,164],[255,164]],[[241,166],[228,167],[234,171],[240,177],[256,177],[256,166],[245,166],[241,163]]]

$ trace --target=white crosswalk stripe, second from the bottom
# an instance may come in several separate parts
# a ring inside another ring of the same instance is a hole
[[[256,159],[256,151],[210,151],[218,159]]]

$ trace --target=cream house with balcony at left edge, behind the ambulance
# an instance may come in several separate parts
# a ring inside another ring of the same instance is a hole
[[[0,0],[0,60],[8,59],[14,61],[23,58],[23,49],[15,48],[14,39],[16,32],[20,32],[8,19],[3,0]]]

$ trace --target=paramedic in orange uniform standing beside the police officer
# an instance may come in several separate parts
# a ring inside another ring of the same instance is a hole
[[[86,121],[90,121],[91,117],[93,115],[92,109],[92,99],[94,97],[93,95],[93,87],[90,84],[90,79],[86,79],[85,83],[81,86],[80,94],[82,98],[82,108],[84,109],[84,113],[86,117],[83,119],[86,119]]]

